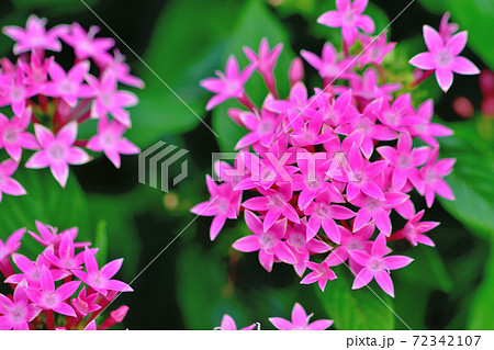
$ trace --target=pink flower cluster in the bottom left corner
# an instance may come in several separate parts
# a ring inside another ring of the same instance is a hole
[[[97,248],[77,242],[78,228],[58,233],[36,222],[37,233],[27,232],[43,248],[35,260],[18,253],[26,229],[14,232],[4,242],[0,239],[0,272],[13,293],[0,294],[0,330],[27,329],[108,329],[121,323],[127,306],[121,306],[99,326],[96,318],[120,292],[132,287],[112,278],[123,259],[101,269]],[[79,251],[77,251],[79,250]]]

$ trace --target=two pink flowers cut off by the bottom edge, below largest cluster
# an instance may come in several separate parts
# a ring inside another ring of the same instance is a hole
[[[333,320],[330,319],[318,319],[311,323],[313,314],[307,315],[305,309],[299,303],[295,303],[292,309],[292,319],[288,320],[281,317],[271,317],[269,321],[279,330],[325,330],[333,325]],[[254,330],[256,329],[256,325],[258,326],[258,330],[260,330],[259,324],[252,324],[239,330]],[[220,327],[214,328],[215,330],[237,330],[237,325],[232,316],[225,314],[222,319],[222,325]]]

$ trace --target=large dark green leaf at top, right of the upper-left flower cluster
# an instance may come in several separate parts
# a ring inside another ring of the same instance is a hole
[[[222,39],[239,7],[222,0],[175,0],[165,7],[144,56],[147,66],[139,69],[146,88],[138,92],[141,102],[132,111],[128,131],[137,145],[146,147],[161,135],[183,133],[200,123],[209,93],[199,81],[217,68]]]

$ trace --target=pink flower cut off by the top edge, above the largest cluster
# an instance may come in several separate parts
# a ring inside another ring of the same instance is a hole
[[[336,11],[323,13],[317,23],[330,27],[340,27],[345,43],[351,46],[357,39],[359,29],[368,34],[375,30],[372,19],[362,12],[368,0],[336,0]]]

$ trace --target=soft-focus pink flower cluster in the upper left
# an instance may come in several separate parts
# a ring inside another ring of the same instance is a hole
[[[69,165],[91,160],[82,148],[104,153],[117,168],[120,155],[139,151],[123,137],[131,127],[126,108],[135,105],[137,97],[119,90],[119,83],[136,88],[144,83],[130,75],[117,49],[109,53],[114,41],[96,37],[98,32],[96,26],[86,32],[78,23],[47,30],[46,20],[35,15],[25,29],[3,29],[15,41],[16,61],[1,60],[0,106],[11,106],[12,113],[0,114],[0,148],[9,156],[0,165],[0,192],[25,194],[12,179],[24,149],[36,150],[25,166],[49,167],[61,187],[66,185]],[[61,52],[63,44],[75,54],[68,70],[48,54]],[[89,120],[99,121],[96,135],[78,138],[79,126]]]

